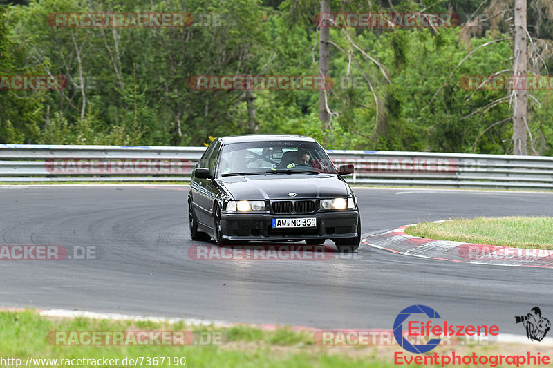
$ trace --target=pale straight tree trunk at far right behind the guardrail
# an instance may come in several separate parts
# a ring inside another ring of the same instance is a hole
[[[526,0],[514,0],[514,76],[523,78],[514,83],[513,154],[526,155]]]

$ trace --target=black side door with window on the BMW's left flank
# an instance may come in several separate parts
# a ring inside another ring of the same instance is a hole
[[[209,150],[209,152],[207,152],[205,159],[200,161],[200,164],[202,166],[198,165],[198,167],[207,167],[209,168],[209,171],[215,173],[214,168],[217,162],[219,151],[221,151],[221,142],[213,142],[207,149]],[[212,180],[195,178],[195,181],[197,183],[198,190],[196,201],[196,203],[198,204],[198,208],[196,211],[196,218],[198,219],[198,222],[200,222],[200,224],[212,227],[213,200],[215,198],[212,193]]]

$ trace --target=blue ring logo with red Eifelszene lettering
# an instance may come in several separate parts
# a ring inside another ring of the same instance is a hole
[[[413,317],[411,317],[413,316]],[[409,321],[408,319],[411,318]],[[415,304],[406,307],[395,318],[393,322],[393,336],[404,350],[410,353],[427,353],[437,347],[442,338],[447,336],[498,336],[499,327],[496,325],[452,325],[447,320],[436,324],[433,319],[442,318],[440,314],[422,304]],[[411,344],[404,334],[404,322],[407,325],[406,336],[429,338],[426,344]]]

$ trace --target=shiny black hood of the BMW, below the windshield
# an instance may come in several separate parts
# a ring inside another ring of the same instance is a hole
[[[332,174],[270,174],[225,177],[219,180],[235,200],[347,197],[348,185]]]

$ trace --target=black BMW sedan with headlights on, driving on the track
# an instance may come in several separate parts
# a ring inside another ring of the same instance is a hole
[[[355,251],[361,220],[355,194],[324,149],[301,135],[236,135],[209,145],[192,171],[188,220],[193,240],[332,240]]]

